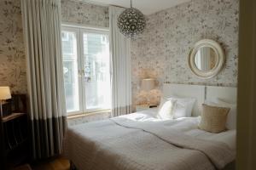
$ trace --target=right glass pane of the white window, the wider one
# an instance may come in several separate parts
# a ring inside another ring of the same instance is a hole
[[[84,33],[83,40],[86,109],[110,108],[108,35]]]

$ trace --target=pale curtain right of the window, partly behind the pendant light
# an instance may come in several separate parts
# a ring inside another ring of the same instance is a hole
[[[124,10],[109,7],[112,116],[131,113],[131,40],[117,26],[119,14]]]

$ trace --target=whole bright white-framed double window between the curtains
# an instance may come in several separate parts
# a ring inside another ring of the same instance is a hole
[[[67,112],[110,109],[108,31],[65,26],[61,36]]]

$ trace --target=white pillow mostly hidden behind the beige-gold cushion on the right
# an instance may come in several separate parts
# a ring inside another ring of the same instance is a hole
[[[226,127],[228,129],[236,129],[236,104],[225,102],[222,99],[216,99],[215,101],[206,101],[206,103],[207,105],[229,107],[230,112],[228,114]]]

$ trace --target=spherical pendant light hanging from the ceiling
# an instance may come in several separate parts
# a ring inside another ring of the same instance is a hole
[[[138,34],[143,33],[146,26],[146,20],[141,11],[132,7],[125,9],[125,11],[119,15],[118,27],[119,31],[125,35],[125,37],[136,37]]]

